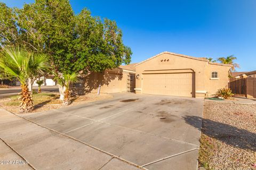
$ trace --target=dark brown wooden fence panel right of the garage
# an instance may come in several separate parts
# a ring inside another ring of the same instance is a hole
[[[246,78],[229,78],[228,87],[233,94],[246,95]]]

